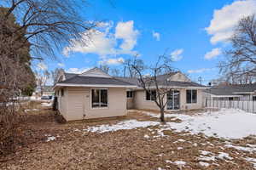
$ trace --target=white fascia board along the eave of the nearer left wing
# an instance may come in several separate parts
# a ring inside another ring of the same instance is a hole
[[[57,83],[56,87],[96,87],[96,88],[137,88],[137,86],[133,85],[111,85],[111,84],[72,84],[72,83]]]

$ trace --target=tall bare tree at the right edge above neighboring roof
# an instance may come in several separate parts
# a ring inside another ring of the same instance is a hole
[[[231,83],[255,81],[256,73],[256,19],[255,15],[242,18],[230,37],[232,48],[218,64],[224,78]]]

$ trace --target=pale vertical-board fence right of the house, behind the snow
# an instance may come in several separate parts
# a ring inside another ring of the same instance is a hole
[[[253,100],[206,99],[204,106],[207,108],[234,108],[256,113],[256,101]]]

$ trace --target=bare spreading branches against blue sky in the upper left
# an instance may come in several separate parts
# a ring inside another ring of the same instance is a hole
[[[30,42],[32,54],[55,58],[55,49],[61,50],[70,39],[80,40],[81,32],[96,26],[83,20],[83,4],[83,0],[5,0],[3,5],[9,10],[1,17],[0,28],[6,26],[11,14],[15,14],[20,26],[9,29],[13,35],[18,35],[9,45],[20,40],[19,32],[23,31],[26,34],[24,42]],[[15,48],[21,47],[22,44]]]

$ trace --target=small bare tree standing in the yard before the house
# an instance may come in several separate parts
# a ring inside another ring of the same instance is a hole
[[[126,62],[128,68],[138,76],[140,86],[154,98],[155,104],[160,108],[161,122],[165,122],[166,96],[172,90],[168,78],[163,80],[162,77],[171,77],[175,71],[171,64],[172,60],[166,57],[166,54],[159,55],[154,65],[145,65],[143,60],[137,57]]]

